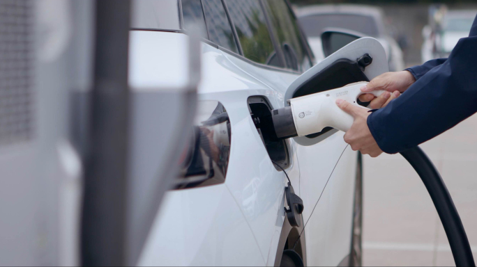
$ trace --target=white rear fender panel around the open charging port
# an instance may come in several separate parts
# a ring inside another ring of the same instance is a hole
[[[209,48],[213,49],[212,47]],[[229,56],[223,51],[221,53],[222,56],[220,58],[229,59],[226,60],[226,65],[238,64],[236,66],[236,73],[241,72],[243,74],[241,79],[239,79],[241,84],[236,88],[230,86],[233,83],[232,79],[225,74],[220,74],[219,70],[215,70],[220,67],[207,66],[206,61],[208,59],[205,59],[204,70],[211,70],[209,72],[211,76],[204,73],[203,83],[199,86],[199,99],[218,100],[227,108],[232,124],[232,147],[225,184],[241,207],[245,220],[250,224],[259,248],[264,257],[266,257],[271,250],[273,235],[276,234],[275,229],[271,225],[275,225],[277,218],[282,217],[284,213],[282,208],[284,207],[285,177],[282,172],[278,172],[275,169],[270,161],[262,138],[260,138],[257,129],[255,129],[255,124],[248,111],[247,99],[251,96],[261,95],[268,99],[269,104],[273,108],[278,108],[279,102],[276,99],[276,91],[260,81],[264,80],[263,76],[279,78],[280,76],[275,74],[275,72],[279,71],[262,70],[260,72],[256,70],[255,75],[252,76],[239,69],[239,63],[241,62],[232,61],[235,58],[234,56]],[[255,68],[251,64],[247,64],[249,70]],[[241,67],[245,66],[242,65]],[[255,77],[259,77],[261,80],[259,81]],[[211,82],[209,83],[208,81]],[[214,90],[214,85],[220,85],[220,88],[227,85],[227,92],[220,95],[209,93]],[[294,154],[292,145],[289,144],[288,148],[289,153]],[[293,156],[291,157],[292,161],[290,161],[289,168],[287,168],[287,173],[290,179],[292,179],[292,183],[296,184],[295,186],[298,188],[298,165],[294,163]],[[253,193],[250,193],[250,191]],[[273,250],[276,249],[273,248]]]

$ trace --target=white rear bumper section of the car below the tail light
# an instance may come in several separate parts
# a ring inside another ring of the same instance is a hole
[[[247,257],[243,257],[247,255]],[[224,184],[169,191],[139,266],[261,266],[254,236]]]

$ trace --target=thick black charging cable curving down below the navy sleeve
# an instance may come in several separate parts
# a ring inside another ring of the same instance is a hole
[[[459,213],[455,209],[452,197],[450,197],[439,172],[420,147],[407,149],[401,152],[401,155],[409,161],[421,177],[432,202],[434,202],[442,226],[446,231],[455,266],[476,266]]]

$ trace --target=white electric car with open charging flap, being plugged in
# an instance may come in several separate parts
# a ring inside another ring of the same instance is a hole
[[[192,138],[183,140],[181,173],[155,215],[139,265],[359,265],[360,156],[335,129],[278,140],[271,112],[291,97],[386,72],[381,44],[351,42],[311,73],[314,58],[284,0],[132,3],[132,88],[185,82],[176,68],[188,60],[184,40],[190,29],[202,36],[197,118],[183,129]],[[289,88],[302,74],[314,84]],[[292,223],[282,169],[303,200]]]

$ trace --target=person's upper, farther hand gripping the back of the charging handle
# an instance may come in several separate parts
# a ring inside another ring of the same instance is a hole
[[[414,76],[407,70],[383,73],[361,87],[361,92],[374,90],[386,90],[388,92],[384,92],[379,97],[374,97],[372,94],[363,94],[359,96],[359,100],[361,102],[371,102],[370,108],[382,108],[387,106],[391,100],[399,97],[415,81]]]

